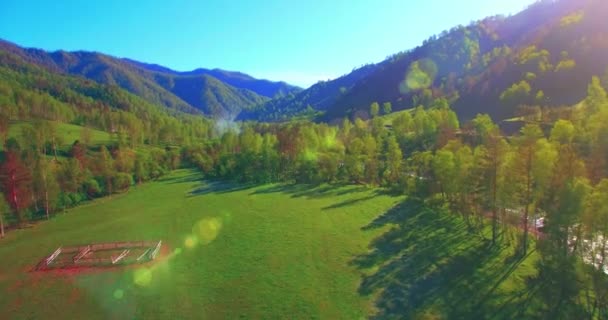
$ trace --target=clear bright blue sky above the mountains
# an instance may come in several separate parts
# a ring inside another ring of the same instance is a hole
[[[0,0],[0,38],[302,87],[531,0]]]

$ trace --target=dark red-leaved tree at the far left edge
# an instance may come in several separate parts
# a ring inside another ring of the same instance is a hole
[[[19,156],[9,151],[0,168],[6,200],[13,209],[19,224],[23,223],[23,212],[32,203],[32,177]]]

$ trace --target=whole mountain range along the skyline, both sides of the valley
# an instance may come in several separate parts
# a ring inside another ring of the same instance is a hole
[[[373,102],[393,111],[449,104],[461,119],[495,120],[525,108],[576,104],[594,75],[607,73],[608,3],[544,0],[512,16],[456,26],[420,46],[302,90],[221,69],[179,72],[97,52],[47,52],[0,41],[0,52],[51,73],[120,87],[172,110],[239,120],[318,121],[369,117]],[[364,46],[365,44],[361,44]]]

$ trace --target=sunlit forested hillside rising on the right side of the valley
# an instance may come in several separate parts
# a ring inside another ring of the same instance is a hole
[[[369,117],[372,102],[393,110],[445,99],[461,119],[520,115],[521,106],[578,103],[585,83],[608,72],[608,5],[602,0],[545,0],[509,17],[495,16],[432,36],[293,96],[267,102],[246,118],[283,120],[323,112],[323,121]],[[524,112],[525,113],[525,112]]]

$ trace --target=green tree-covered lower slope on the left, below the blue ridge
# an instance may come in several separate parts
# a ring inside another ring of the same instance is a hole
[[[210,130],[202,116],[150,103],[116,85],[50,72],[2,51],[0,116],[89,126],[128,136],[134,144],[175,143],[186,130],[201,138]]]

